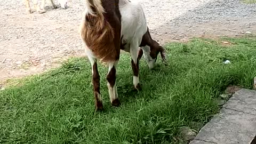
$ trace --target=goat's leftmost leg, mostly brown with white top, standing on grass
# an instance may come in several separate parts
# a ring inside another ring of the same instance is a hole
[[[97,66],[97,60],[89,57],[92,66],[92,83],[93,83],[93,92],[94,92],[94,102],[95,110],[102,110],[102,99],[100,96],[100,75]]]

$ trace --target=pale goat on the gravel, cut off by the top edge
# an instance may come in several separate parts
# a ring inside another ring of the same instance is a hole
[[[46,12],[45,9],[44,9],[45,0],[42,0],[42,6],[41,7],[38,5],[37,0],[25,0],[26,9],[29,13],[32,13],[31,7],[30,7],[30,1],[32,1],[34,9],[36,9],[36,11],[38,13]],[[57,6],[54,4],[53,0],[50,0],[50,2],[52,3],[53,8],[57,9]],[[58,0],[58,2],[59,2],[62,9],[67,9],[68,0]]]

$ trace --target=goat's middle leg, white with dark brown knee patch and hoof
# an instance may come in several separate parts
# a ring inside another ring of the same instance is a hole
[[[112,106],[118,107],[120,101],[118,99],[117,89],[116,89],[116,69],[118,61],[110,62],[107,75],[107,86],[109,92],[109,98]]]

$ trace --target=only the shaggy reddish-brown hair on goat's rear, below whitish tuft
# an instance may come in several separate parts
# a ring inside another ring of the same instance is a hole
[[[93,54],[104,62],[116,60],[114,30],[105,21],[103,15],[86,15],[81,36]]]

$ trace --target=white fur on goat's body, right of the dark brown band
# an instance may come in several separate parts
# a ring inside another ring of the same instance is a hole
[[[120,1],[125,1],[124,5],[122,5],[122,2],[119,4],[119,10],[121,13],[122,43],[126,43],[125,51],[128,51],[131,43],[137,43],[139,47],[142,36],[147,32],[147,22],[142,7],[138,2]]]

